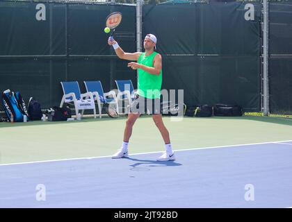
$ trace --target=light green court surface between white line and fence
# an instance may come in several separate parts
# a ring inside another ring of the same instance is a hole
[[[163,117],[175,150],[292,139],[292,119],[277,117]],[[126,118],[0,123],[0,164],[112,155],[122,144]],[[129,154],[164,151],[149,116],[133,127]]]

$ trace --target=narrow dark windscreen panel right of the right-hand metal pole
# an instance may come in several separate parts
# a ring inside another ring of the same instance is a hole
[[[292,2],[269,6],[270,112],[292,114]]]

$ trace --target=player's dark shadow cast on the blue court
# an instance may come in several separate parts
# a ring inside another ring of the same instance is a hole
[[[132,171],[149,171],[147,167],[179,167],[182,164],[175,161],[156,161],[156,160],[142,160],[132,157],[128,157],[128,160],[135,161],[135,163],[129,165]]]

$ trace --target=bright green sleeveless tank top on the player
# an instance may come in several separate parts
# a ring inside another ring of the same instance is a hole
[[[142,53],[138,58],[138,63],[147,67],[154,67],[153,60],[156,54],[156,51],[149,56],[145,56],[145,53]],[[137,93],[139,96],[148,99],[160,99],[161,83],[162,69],[159,75],[149,74],[149,72],[144,71],[143,69],[138,69]]]

